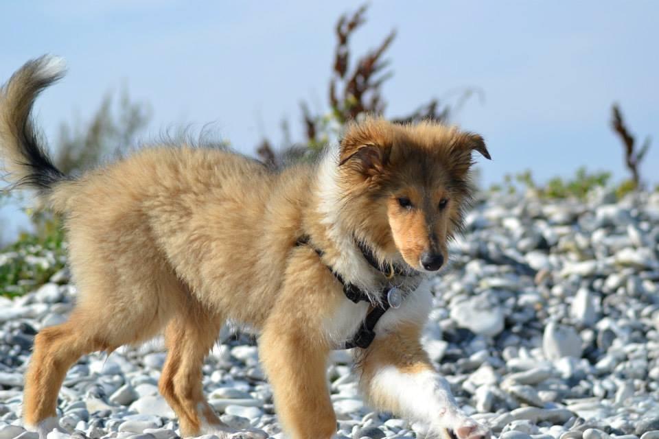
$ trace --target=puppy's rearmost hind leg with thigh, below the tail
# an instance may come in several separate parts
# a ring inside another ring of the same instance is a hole
[[[80,273],[79,302],[69,320],[36,335],[25,375],[23,418],[40,438],[58,428],[58,392],[67,370],[82,355],[111,353],[124,344],[149,340],[179,307],[183,289],[176,276],[166,270],[148,278],[140,274],[124,270],[119,278],[100,277],[91,270]],[[91,289],[95,279],[97,287]]]

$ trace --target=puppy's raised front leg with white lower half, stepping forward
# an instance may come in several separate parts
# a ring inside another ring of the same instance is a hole
[[[489,439],[489,429],[456,404],[419,342],[421,328],[404,324],[377,337],[360,361],[360,385],[369,403],[410,421],[430,425],[442,438]]]

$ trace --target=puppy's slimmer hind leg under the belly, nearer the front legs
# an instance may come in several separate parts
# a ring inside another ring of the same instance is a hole
[[[201,370],[223,319],[190,300],[165,330],[168,353],[159,389],[178,415],[182,436],[228,437],[233,430],[220,421],[204,397]]]

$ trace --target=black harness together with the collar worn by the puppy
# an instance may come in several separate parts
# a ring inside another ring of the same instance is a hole
[[[393,264],[391,265],[390,270],[383,270],[382,266],[378,264],[377,261],[375,261],[375,257],[373,256],[373,251],[370,248],[367,248],[366,246],[363,246],[360,244],[358,241],[357,246],[361,250],[362,254],[364,255],[364,258],[368,261],[368,263],[375,268],[375,270],[378,270],[379,272],[382,272],[387,277],[392,277],[393,275],[399,275],[399,276],[407,276],[408,275],[408,270],[405,270],[402,266]],[[319,257],[323,257],[323,250],[320,250],[319,248],[316,248],[311,244],[311,238],[308,235],[303,235],[299,237],[297,242],[295,243],[295,246],[310,246],[311,248],[314,249],[316,254],[318,254]],[[371,303],[371,300],[369,300],[368,294],[362,291],[358,286],[353,285],[351,283],[347,283],[343,276],[340,275],[340,273],[336,272],[332,267],[329,265],[326,265],[329,271],[334,274],[334,277],[336,277],[336,280],[343,285],[343,294],[351,300],[351,302],[354,303],[359,303],[359,302],[369,302]],[[378,320],[382,316],[384,316],[384,313],[391,308],[391,304],[389,303],[388,297],[389,297],[389,292],[395,287],[391,285],[387,285],[382,289],[382,292],[380,293],[380,303],[378,305],[373,305],[373,309],[368,313],[366,316],[364,322],[362,322],[362,326],[358,329],[357,333],[352,337],[351,340],[345,342],[343,345],[343,349],[351,349],[351,348],[368,348],[371,346],[371,343],[373,342],[373,339],[375,338],[375,325],[378,324]]]

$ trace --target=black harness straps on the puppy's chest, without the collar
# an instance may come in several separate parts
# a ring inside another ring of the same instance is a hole
[[[319,248],[316,248],[315,246],[312,246],[310,243],[311,239],[309,235],[302,235],[297,239],[295,242],[295,246],[305,246],[308,245],[311,248],[313,248],[318,254],[319,257],[323,257],[323,250],[320,250]],[[363,252],[363,250],[362,250]],[[369,259],[367,258],[367,261]],[[374,259],[373,259],[374,261]],[[369,261],[370,263],[371,261]],[[373,265],[373,264],[371,264]],[[345,279],[343,276],[341,276],[338,272],[334,271],[332,267],[329,265],[325,265],[329,271],[334,274],[334,277],[336,277],[336,280],[343,285],[343,294],[351,300],[351,302],[354,303],[359,303],[359,302],[371,302],[369,300],[368,294],[363,292],[358,286],[353,285],[351,283],[346,283]],[[373,265],[375,268],[377,268],[376,265]],[[379,269],[378,269],[379,270]],[[366,349],[369,346],[371,346],[371,343],[373,342],[373,339],[375,339],[375,325],[378,324],[378,320],[384,315],[384,313],[390,308],[389,302],[386,300],[386,296],[389,293],[389,290],[391,287],[385,287],[382,290],[382,294],[380,295],[380,305],[373,307],[371,311],[367,314],[364,322],[362,322],[362,326],[357,330],[357,333],[352,337],[351,340],[348,340],[345,342],[343,345],[343,349],[352,349],[352,348],[362,348]]]

